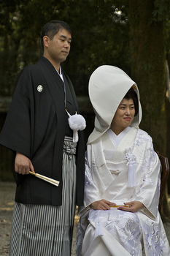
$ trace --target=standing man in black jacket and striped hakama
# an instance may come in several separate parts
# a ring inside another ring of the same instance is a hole
[[[16,154],[11,256],[71,255],[75,206],[83,204],[85,150],[82,132],[75,143],[69,127],[68,113],[78,113],[78,105],[61,69],[71,41],[67,23],[52,20],[44,26],[43,56],[21,72],[1,131],[1,145]]]

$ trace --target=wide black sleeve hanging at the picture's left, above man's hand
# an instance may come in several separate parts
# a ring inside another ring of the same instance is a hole
[[[24,69],[15,88],[12,102],[0,135],[1,145],[31,157],[31,74]]]

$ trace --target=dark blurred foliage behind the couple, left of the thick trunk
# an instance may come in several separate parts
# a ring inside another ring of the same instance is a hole
[[[0,4],[0,95],[11,95],[15,78],[41,55],[39,37],[49,20],[72,27],[72,50],[63,63],[77,94],[87,94],[88,78],[101,64],[129,69],[127,1],[4,0]]]

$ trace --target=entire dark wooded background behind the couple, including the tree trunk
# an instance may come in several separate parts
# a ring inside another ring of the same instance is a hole
[[[152,137],[155,151],[170,159],[169,0],[1,0],[0,130],[18,74],[42,55],[40,34],[50,20],[64,20],[72,28],[71,51],[62,67],[87,121],[85,140],[94,121],[88,80],[96,67],[114,65],[139,86],[140,128]],[[12,157],[11,151],[0,146],[0,181],[13,181]],[[168,194],[170,184],[163,203],[166,216]]]

